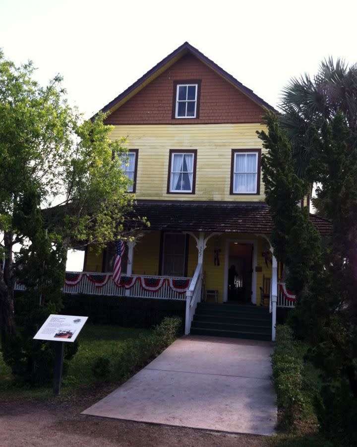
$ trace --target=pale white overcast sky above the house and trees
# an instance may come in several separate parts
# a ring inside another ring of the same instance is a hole
[[[292,76],[329,56],[357,61],[353,0],[0,0],[0,48],[60,73],[88,118],[188,41],[277,107]]]

